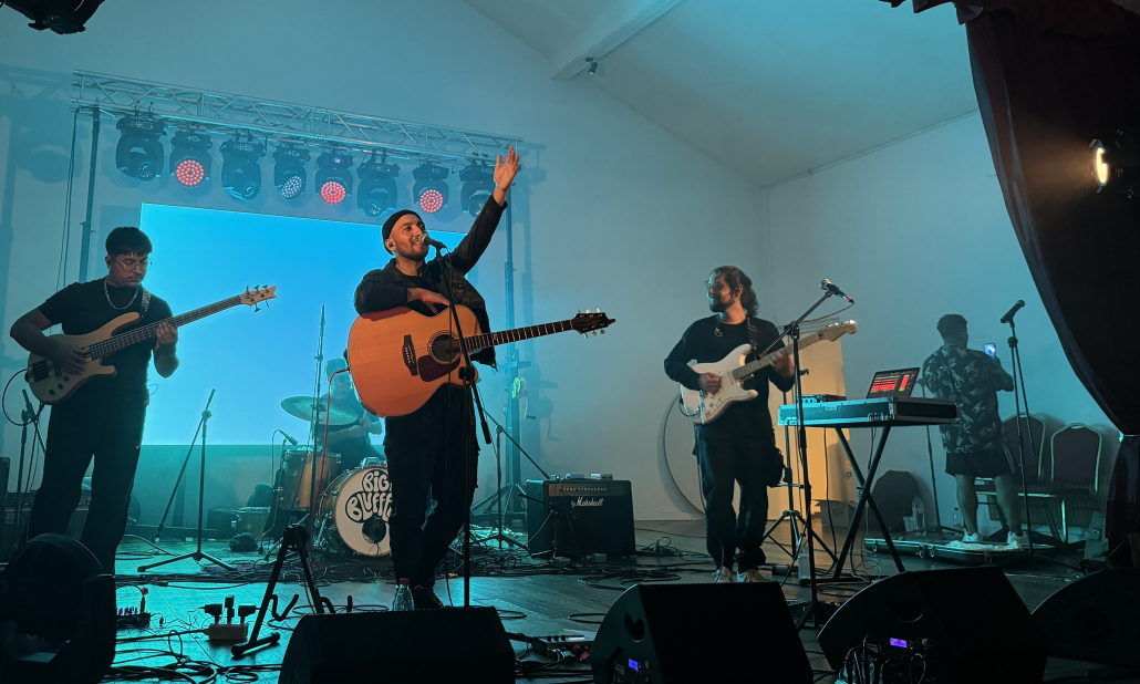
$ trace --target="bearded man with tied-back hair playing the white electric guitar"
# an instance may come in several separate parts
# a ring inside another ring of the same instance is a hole
[[[715,269],[706,285],[709,309],[716,315],[689,326],[665,359],[665,373],[686,388],[715,394],[720,377],[715,373],[698,374],[689,367],[690,360],[719,361],[741,344],[751,344],[751,361],[780,333],[772,323],[756,317],[752,282],[739,268]],[[717,565],[714,581],[764,581],[759,567],[765,560],[760,544],[768,516],[767,488],[779,484],[783,472],[768,414],[768,382],[787,392],[795,384],[795,375],[791,357],[784,352],[775,365],[746,381],[744,389],[759,392],[755,399],[733,404],[715,421],[695,426],[706,545]],[[734,482],[740,483],[739,515],[732,507]],[[738,548],[740,573],[734,576]]]

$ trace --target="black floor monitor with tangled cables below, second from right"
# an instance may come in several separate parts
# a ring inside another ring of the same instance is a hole
[[[1044,642],[999,568],[903,572],[852,596],[820,630],[839,669],[863,643],[917,650],[938,684],[1040,684]]]

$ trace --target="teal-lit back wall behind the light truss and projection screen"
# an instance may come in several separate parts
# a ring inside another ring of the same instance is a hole
[[[241,13],[217,0],[109,2],[80,35],[36,33],[24,24],[17,13],[0,10],[5,329],[55,290],[72,70],[518,135],[527,140],[514,197],[519,325],[597,307],[617,319],[604,337],[588,343],[562,335],[524,345],[524,359],[534,363],[523,372],[530,412],[539,418],[526,423],[524,446],[552,472],[612,472],[634,480],[642,518],[685,515],[681,511],[687,507],[662,483],[660,470],[660,421],[674,391],[661,360],[685,326],[707,315],[701,282],[710,268],[732,262],[756,272],[768,263],[755,188],[581,80],[551,81],[545,58],[458,0],[288,0],[243,3]],[[81,121],[75,235],[85,199],[89,130]],[[109,228],[136,221],[142,202],[364,219],[355,207],[287,206],[268,181],[255,202],[241,205],[217,187],[220,155],[215,187],[206,194],[189,195],[165,178],[135,182],[114,169],[114,122],[105,121],[104,131],[97,245]],[[268,178],[270,164],[263,166]],[[458,184],[451,192],[457,195]],[[455,204],[449,214],[429,219],[429,227],[465,229]],[[255,258],[256,245],[249,250]],[[76,253],[73,241],[68,280],[75,278]],[[503,259],[499,237],[474,276],[498,327]],[[385,260],[376,255],[377,266]],[[23,359],[5,336],[5,373]],[[311,377],[309,363],[282,373]],[[502,377],[483,389],[496,415],[505,400]],[[14,397],[7,406],[18,410]],[[17,449],[18,430],[8,426],[3,454],[15,458]],[[481,463],[484,486],[494,480],[489,453]]]

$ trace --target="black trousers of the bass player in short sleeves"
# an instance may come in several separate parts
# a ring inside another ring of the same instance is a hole
[[[91,506],[80,542],[95,554],[104,572],[114,573],[145,418],[142,401],[107,397],[90,388],[51,407],[43,479],[32,505],[28,538],[67,531],[93,457]]]

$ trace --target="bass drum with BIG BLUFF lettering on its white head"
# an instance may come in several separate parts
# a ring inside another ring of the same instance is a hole
[[[391,511],[392,483],[386,467],[367,465],[344,471],[320,498],[321,529],[316,546],[368,557],[385,556],[392,552],[388,530]]]

